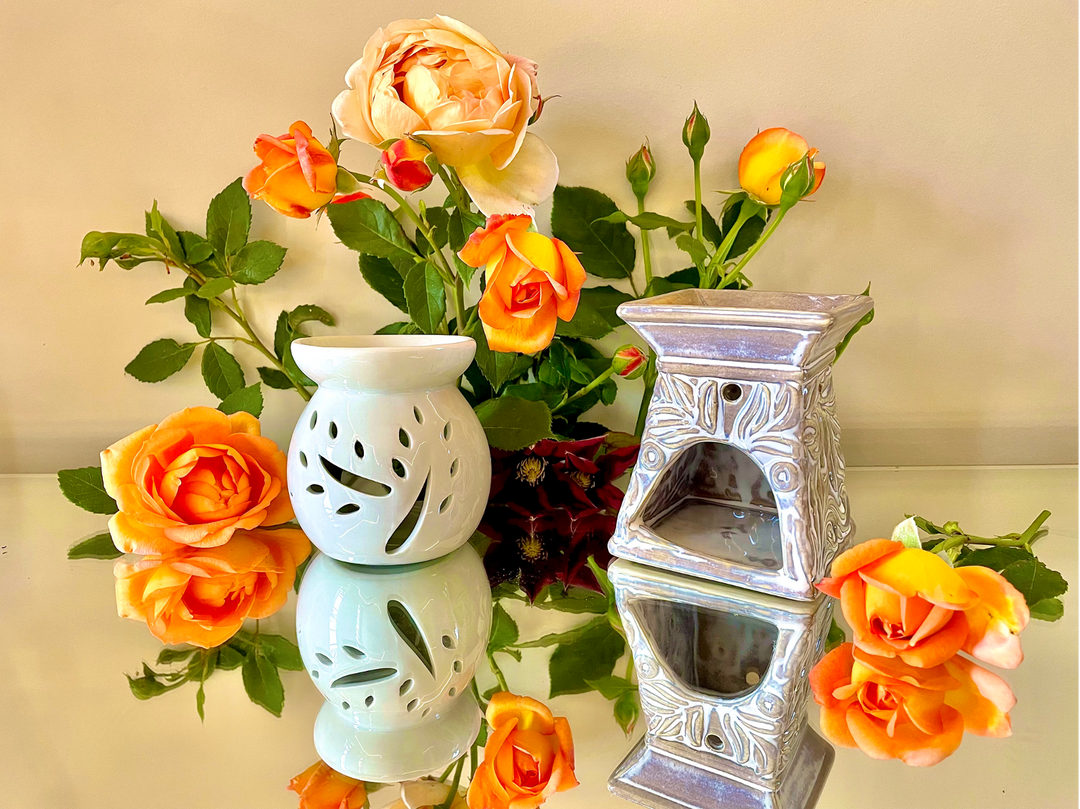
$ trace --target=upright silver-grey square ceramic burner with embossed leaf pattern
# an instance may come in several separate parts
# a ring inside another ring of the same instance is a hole
[[[813,599],[853,532],[831,365],[873,306],[740,289],[620,306],[659,376],[611,552]]]

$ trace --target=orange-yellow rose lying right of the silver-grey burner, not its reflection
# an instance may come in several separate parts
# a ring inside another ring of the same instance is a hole
[[[840,599],[855,646],[928,669],[960,649],[1003,669],[1024,659],[1024,596],[985,567],[949,567],[936,554],[872,539],[841,553],[818,589]]]

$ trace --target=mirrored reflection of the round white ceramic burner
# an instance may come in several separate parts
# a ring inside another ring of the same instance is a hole
[[[303,664],[326,703],[315,749],[339,772],[405,781],[468,752],[480,730],[470,690],[491,623],[471,545],[404,567],[319,555],[297,599]]]

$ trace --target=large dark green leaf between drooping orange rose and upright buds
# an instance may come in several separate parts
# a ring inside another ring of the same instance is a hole
[[[630,278],[637,259],[634,237],[625,224],[597,221],[619,210],[592,188],[556,186],[551,231],[577,253],[584,268],[603,278]]]

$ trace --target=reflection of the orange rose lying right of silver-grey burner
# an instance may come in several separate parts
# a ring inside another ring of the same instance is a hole
[[[810,672],[821,731],[834,744],[915,767],[937,764],[963,731],[1004,737],[1016,703],[1001,677],[955,657],[916,669],[841,644]]]

